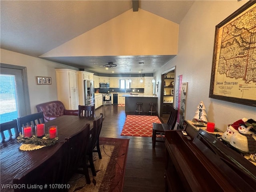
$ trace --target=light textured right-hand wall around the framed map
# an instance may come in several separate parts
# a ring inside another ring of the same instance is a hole
[[[182,82],[188,82],[186,120],[192,120],[201,100],[207,120],[220,130],[244,117],[256,119],[255,107],[209,98],[215,26],[246,2],[196,1],[180,23],[178,55],[157,71],[156,82],[161,72],[176,66],[176,78],[182,74]]]

